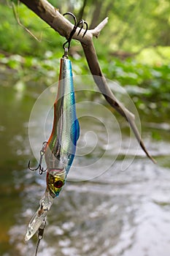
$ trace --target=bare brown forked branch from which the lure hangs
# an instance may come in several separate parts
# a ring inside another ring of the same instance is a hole
[[[66,20],[66,18],[61,15],[58,10],[53,7],[52,4],[50,4],[47,0],[20,0],[23,2],[23,4],[26,4],[26,6],[31,9],[33,12],[36,13],[42,20],[45,20],[47,24],[50,25],[51,28],[53,28],[55,31],[57,31],[62,37],[66,37],[66,39],[69,38],[69,34],[71,33],[73,29],[73,24],[69,22],[69,20]],[[149,157],[152,162],[155,162],[154,159],[150,156],[150,154],[147,152],[147,149],[144,146],[144,143],[142,141],[142,138],[139,134],[139,131],[135,124],[135,118],[134,114],[128,111],[123,104],[121,104],[115,97],[114,94],[112,94],[112,91],[109,89],[109,86],[107,85],[107,80],[104,78],[104,75],[101,72],[100,65],[98,63],[98,58],[96,55],[96,50],[93,45],[93,37],[98,37],[100,34],[101,29],[104,28],[104,26],[107,24],[108,18],[105,18],[98,26],[96,26],[95,29],[90,29],[85,34],[85,37],[82,37],[85,30],[82,29],[81,33],[78,34],[78,29],[73,39],[77,39],[81,42],[82,48],[85,53],[85,57],[88,61],[88,66],[90,68],[90,72],[93,75],[93,79],[98,86],[98,89],[101,91],[101,93],[104,95],[105,99],[107,99],[107,102],[112,106],[112,108],[115,108],[117,112],[120,113],[130,124],[131,129],[134,131],[134,134],[136,135],[136,139],[139,141],[140,146],[144,150],[144,152],[147,154],[147,157]]]

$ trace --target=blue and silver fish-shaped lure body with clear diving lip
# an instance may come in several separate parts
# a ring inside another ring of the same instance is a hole
[[[54,103],[53,130],[45,147],[47,164],[47,188],[26,230],[28,241],[39,229],[47,212],[58,197],[72,165],[80,128],[76,116],[72,64],[69,59],[61,59],[58,95]]]

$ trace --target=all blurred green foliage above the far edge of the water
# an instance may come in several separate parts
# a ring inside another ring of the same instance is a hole
[[[55,5],[55,1],[51,2]],[[64,1],[55,7],[61,13],[72,11],[77,17],[82,13],[91,26],[109,15],[106,28],[101,31],[99,39],[94,39],[104,75],[124,86],[137,108],[142,111],[152,111],[156,115],[169,113],[170,48],[165,47],[170,42],[168,0],[79,0]],[[54,83],[58,79],[59,59],[63,54],[63,37],[23,4],[16,7],[15,15],[9,5],[1,4],[0,15],[0,67],[15,70],[16,89],[23,90],[25,86],[37,84],[49,86]],[[40,42],[28,34],[18,22]],[[78,45],[78,42],[72,42],[74,74],[89,74]],[[150,47],[146,48],[146,45]],[[117,56],[123,56],[124,60],[114,57],[115,50]],[[134,52],[139,53],[133,55]],[[131,56],[131,59],[125,59],[125,55]]]

